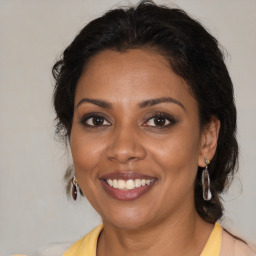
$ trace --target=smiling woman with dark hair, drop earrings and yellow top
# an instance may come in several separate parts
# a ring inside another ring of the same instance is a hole
[[[73,198],[81,191],[103,223],[64,256],[253,255],[217,222],[237,164],[236,108],[201,24],[151,1],[109,11],[53,74]]]

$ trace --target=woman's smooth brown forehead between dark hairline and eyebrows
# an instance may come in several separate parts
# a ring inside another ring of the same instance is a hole
[[[75,102],[92,97],[132,103],[166,96],[195,104],[184,79],[173,72],[166,58],[148,50],[106,50],[87,64]]]

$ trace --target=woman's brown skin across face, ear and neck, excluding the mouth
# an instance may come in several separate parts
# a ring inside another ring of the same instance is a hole
[[[139,107],[163,97],[178,103]],[[103,117],[101,125],[84,118],[93,112]],[[158,125],[152,116],[159,113],[172,118],[162,117]],[[212,119],[200,130],[198,105],[188,85],[158,53],[106,50],[90,60],[75,92],[70,146],[79,186],[104,224],[97,255],[201,253],[213,225],[196,213],[194,181],[205,157],[214,156],[219,126]],[[139,172],[157,181],[138,199],[121,201],[100,182],[110,172]]]

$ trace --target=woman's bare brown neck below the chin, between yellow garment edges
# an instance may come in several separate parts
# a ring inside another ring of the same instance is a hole
[[[103,221],[97,256],[200,255],[213,225],[194,209],[180,214],[136,230],[119,229]]]

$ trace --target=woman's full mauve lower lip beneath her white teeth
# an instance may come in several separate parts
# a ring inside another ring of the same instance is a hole
[[[105,180],[100,180],[104,190],[114,199],[122,201],[135,200],[145,193],[147,193],[155,184],[155,181],[151,182],[149,185],[141,186],[139,188],[121,190],[117,188],[110,187]]]

